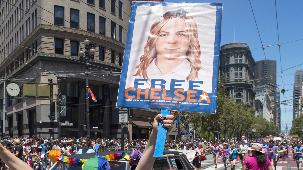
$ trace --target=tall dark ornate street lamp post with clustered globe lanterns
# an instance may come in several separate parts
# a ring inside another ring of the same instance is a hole
[[[90,132],[89,132],[89,101],[88,101],[88,67],[89,67],[89,60],[92,59],[92,65],[94,65],[94,55],[95,55],[95,49],[94,45],[92,45],[92,48],[89,50],[89,55],[88,53],[88,45],[89,45],[89,40],[86,37],[84,40],[84,45],[85,45],[85,52],[83,52],[82,47],[80,48],[79,51],[79,57],[81,61],[81,68],[82,68],[82,62],[85,63],[85,69],[86,69],[86,137],[91,138]],[[83,57],[84,56],[84,57]]]

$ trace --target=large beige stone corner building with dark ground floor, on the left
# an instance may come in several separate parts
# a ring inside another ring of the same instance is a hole
[[[129,0],[1,1],[0,89],[5,88],[3,80],[7,80],[6,84],[12,79],[61,81],[61,95],[66,96],[66,116],[61,121],[73,123],[62,126],[62,136],[85,136],[86,132],[78,129],[86,124],[85,68],[80,67],[78,51],[80,47],[85,50],[83,41],[88,37],[89,49],[94,45],[96,51],[94,63],[89,66],[88,83],[97,96],[97,102],[89,99],[90,130],[98,127],[97,137],[120,138],[121,125],[115,108],[120,80],[117,74],[122,68],[130,6]],[[22,83],[17,84],[22,90]],[[57,99],[58,86],[53,85],[52,90],[52,98]],[[12,99],[9,95],[6,99],[6,137],[58,137],[57,116],[55,121],[48,118],[49,100]],[[0,102],[3,110],[3,99]],[[126,136],[148,138],[150,122],[157,114],[158,111],[134,109]],[[1,132],[2,128],[1,122]],[[53,128],[53,132],[49,133],[48,128]]]

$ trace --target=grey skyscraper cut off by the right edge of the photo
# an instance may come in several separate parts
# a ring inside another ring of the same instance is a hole
[[[300,96],[300,83],[303,81],[303,70],[297,70],[295,72],[295,83],[294,83],[294,95],[293,97],[297,97],[293,99],[293,113],[292,113],[292,119],[295,119],[298,117],[298,109],[299,109],[299,96]]]

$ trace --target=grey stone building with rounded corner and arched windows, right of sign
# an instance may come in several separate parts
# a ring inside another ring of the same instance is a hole
[[[229,43],[221,46],[219,76],[226,76],[227,91],[235,98],[235,103],[243,102],[254,106],[255,60],[246,43]]]

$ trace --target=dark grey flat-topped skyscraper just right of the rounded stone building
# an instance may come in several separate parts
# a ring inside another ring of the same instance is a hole
[[[273,86],[277,85],[277,61],[276,60],[261,60],[256,61],[255,67],[255,89],[262,89],[263,92],[268,93],[271,98],[272,114],[274,124],[279,126],[280,113],[277,112],[276,100],[277,93],[276,88]],[[279,126],[281,127],[281,125]]]

